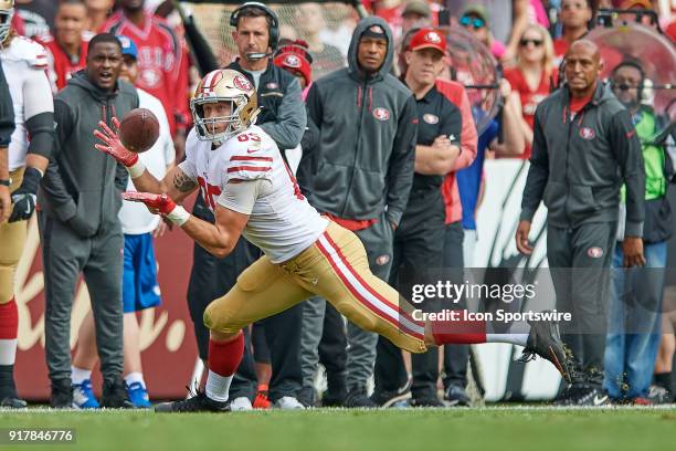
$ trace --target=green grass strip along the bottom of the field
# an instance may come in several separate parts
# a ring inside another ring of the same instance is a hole
[[[73,428],[78,450],[673,450],[676,409],[0,412],[3,428]],[[4,431],[4,433],[7,433]]]

